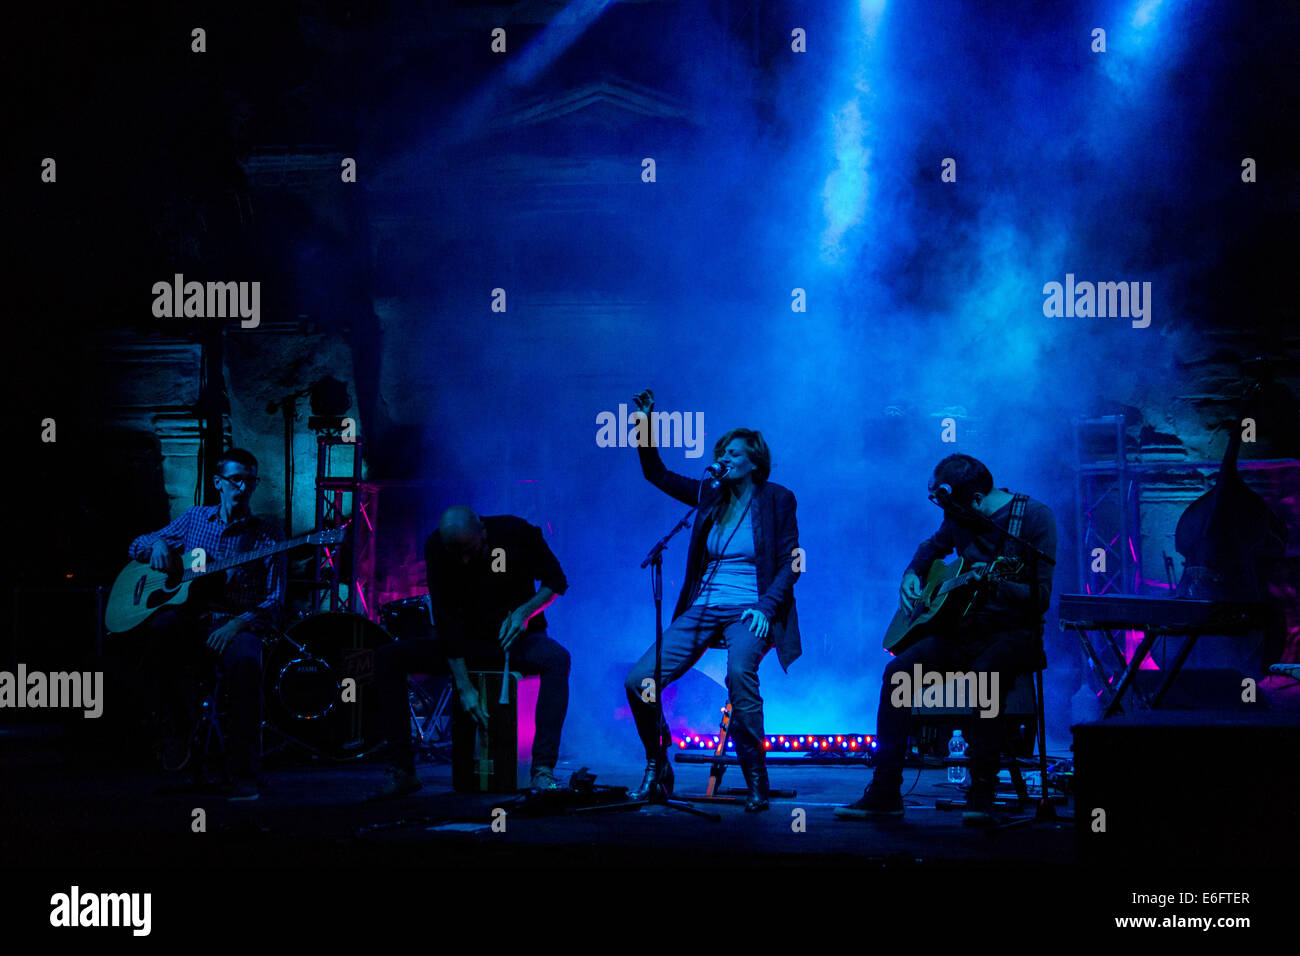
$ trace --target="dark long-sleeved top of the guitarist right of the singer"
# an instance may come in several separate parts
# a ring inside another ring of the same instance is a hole
[[[1006,490],[1005,488],[1001,490]],[[1011,520],[1011,502],[1000,507],[992,515],[993,524],[1005,529]],[[1056,516],[1052,509],[1041,501],[1030,498],[1024,503],[1024,518],[1020,525],[1020,537],[1056,561]],[[1005,538],[993,531],[980,525],[968,525],[944,515],[944,523],[933,536],[920,542],[916,553],[907,564],[909,571],[915,571],[922,583],[930,566],[939,558],[945,558],[957,551],[965,559],[965,567],[974,563],[987,564],[1000,555],[1019,557],[1020,545]],[[997,620],[1006,627],[1031,627],[1037,630],[1041,623],[1034,624],[1034,592],[1026,583],[1030,562],[1024,561],[1024,572],[1015,580],[1002,580],[992,591],[985,604],[978,609],[976,617],[983,620]],[[1039,611],[1046,614],[1048,604],[1052,601],[1052,574],[1056,570],[1052,564],[1039,562]]]

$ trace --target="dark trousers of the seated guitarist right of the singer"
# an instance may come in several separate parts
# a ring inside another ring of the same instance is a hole
[[[979,710],[971,715],[966,753],[972,780],[994,779],[1006,732],[1006,696],[1019,675],[1032,674],[1041,666],[1039,637],[1030,631],[991,632],[968,626],[952,636],[919,640],[890,661],[885,667],[880,705],[876,709],[876,771],[872,779],[881,787],[896,788],[902,780],[913,701],[910,695],[900,693],[900,688],[910,689],[918,663],[922,671],[997,674],[997,717],[980,717]],[[905,675],[907,682],[896,682],[896,674]]]

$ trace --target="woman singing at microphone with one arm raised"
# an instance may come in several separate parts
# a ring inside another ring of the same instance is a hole
[[[636,397],[637,412],[654,411],[654,393]],[[649,429],[646,434],[653,434]],[[794,496],[767,480],[772,455],[758,432],[733,428],[714,446],[710,475],[690,479],[668,471],[647,438],[638,449],[641,471],[662,492],[697,506],[686,553],[686,576],[663,633],[662,684],[654,680],[654,645],[632,667],[625,682],[628,704],[646,749],[646,771],[633,800],[656,787],[672,793],[671,743],[655,727],[654,695],[680,678],[707,648],[727,649],[731,695],[731,737],[745,774],[746,812],[767,809],[767,762],[763,749],[763,698],[758,663],[776,646],[784,670],[798,658],[800,627],[794,613],[794,580],[803,570]],[[664,745],[660,745],[660,739]]]

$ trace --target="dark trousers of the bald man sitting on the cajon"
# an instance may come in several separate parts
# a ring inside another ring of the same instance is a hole
[[[502,670],[506,665],[495,641],[471,641],[465,650],[469,670]],[[560,731],[568,713],[569,653],[546,631],[520,635],[510,648],[510,669],[541,676],[537,689],[533,737],[533,767],[555,767],[560,753]],[[374,678],[380,692],[384,735],[393,765],[415,771],[411,749],[411,711],[407,697],[408,674],[446,674],[447,649],[438,640],[391,641],[374,652]],[[454,695],[455,696],[455,695]],[[456,705],[460,698],[456,696]],[[490,709],[495,701],[484,701]]]

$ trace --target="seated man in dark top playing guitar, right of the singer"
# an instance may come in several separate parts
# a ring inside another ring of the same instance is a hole
[[[952,490],[945,494],[942,485]],[[963,558],[963,570],[972,564],[989,564],[998,557],[1019,557],[1020,546],[1017,542],[1006,540],[968,515],[962,516],[953,503],[985,515],[998,528],[1013,533],[1017,533],[1018,524],[1020,537],[1056,559],[1056,518],[1052,510],[1028,496],[1013,496],[1004,488],[993,488],[993,476],[988,468],[970,455],[949,455],[941,460],[935,467],[930,492],[932,499],[944,506],[944,522],[932,537],[922,541],[907,564],[900,589],[905,610],[910,610],[922,596],[922,575],[931,563],[954,550]],[[1017,522],[1015,512],[1020,510],[1023,514]],[[1026,567],[1028,566],[1026,562]],[[878,749],[871,786],[855,804],[837,806],[837,817],[862,819],[902,816],[900,787],[907,750],[911,700],[901,701],[901,706],[893,705],[898,700],[894,695],[898,684],[893,676],[911,675],[919,663],[922,671],[989,674],[989,683],[997,693],[997,710],[992,713],[997,717],[980,715],[972,721],[967,753],[971,786],[962,822],[967,826],[994,822],[993,793],[1005,724],[1001,714],[1015,678],[1043,666],[1043,619],[1035,614],[1035,609],[1039,609],[1039,614],[1045,611],[1052,597],[1050,564],[1039,563],[1035,587],[1036,600],[1031,585],[1023,583],[1023,576],[1022,580],[985,581],[975,606],[949,633],[923,637],[889,662],[876,713]]]

